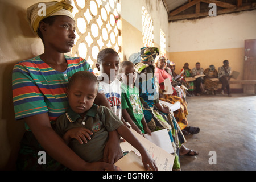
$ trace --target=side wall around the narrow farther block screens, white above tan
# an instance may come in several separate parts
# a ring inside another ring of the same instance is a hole
[[[146,7],[153,20],[154,46],[160,49],[160,29],[166,34],[168,55],[168,14],[162,0],[122,0],[123,55],[128,60],[132,53],[139,52],[142,42],[142,6]]]

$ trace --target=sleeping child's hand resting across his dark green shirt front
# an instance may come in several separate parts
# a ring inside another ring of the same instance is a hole
[[[92,131],[82,128],[82,127],[76,127],[73,129],[68,130],[65,135],[63,136],[64,140],[67,141],[70,138],[75,138],[79,141],[79,143],[87,143],[87,140],[90,140],[90,136],[93,135]]]

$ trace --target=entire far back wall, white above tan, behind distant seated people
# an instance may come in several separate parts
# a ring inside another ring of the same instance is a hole
[[[181,20],[169,24],[170,60],[180,73],[185,62],[192,69],[199,61],[202,68],[220,67],[229,60],[233,70],[243,79],[244,41],[256,38],[256,10],[243,11],[197,20]],[[242,85],[231,85],[242,88]]]

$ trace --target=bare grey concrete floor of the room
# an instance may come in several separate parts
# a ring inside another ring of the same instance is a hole
[[[256,96],[233,94],[187,97],[188,122],[200,133],[185,136],[185,147],[199,152],[181,156],[183,171],[256,170]],[[216,164],[209,164],[216,152]]]

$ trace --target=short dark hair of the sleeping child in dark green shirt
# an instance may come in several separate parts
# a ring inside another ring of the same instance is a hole
[[[97,77],[92,72],[89,72],[89,71],[79,71],[79,72],[74,73],[72,75],[72,77],[70,78],[70,80],[68,82],[68,88],[70,88],[71,85],[73,84],[73,82],[75,82],[79,78],[85,78],[85,79],[94,81],[98,85]]]

